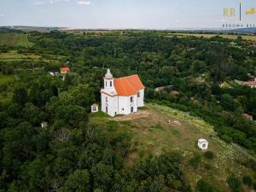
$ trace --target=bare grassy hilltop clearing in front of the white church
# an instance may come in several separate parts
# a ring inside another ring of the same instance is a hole
[[[168,123],[170,120],[171,123]],[[160,155],[165,151],[179,151],[183,154],[183,169],[192,187],[201,177],[206,178],[224,191],[229,191],[226,178],[230,173],[253,176],[253,171],[242,165],[247,160],[255,160],[255,156],[245,149],[224,143],[213,131],[211,125],[199,118],[195,118],[177,109],[148,104],[147,109],[140,110],[129,116],[109,118],[98,113],[90,116],[90,123],[101,124],[111,131],[119,127],[118,131],[131,134],[131,152],[125,161],[126,166],[132,166],[136,160],[141,160],[150,154]],[[214,158],[204,157],[205,151],[197,147],[199,138],[206,138],[209,150]],[[195,156],[201,157],[198,165],[191,165]],[[245,191],[249,191],[243,186]]]

